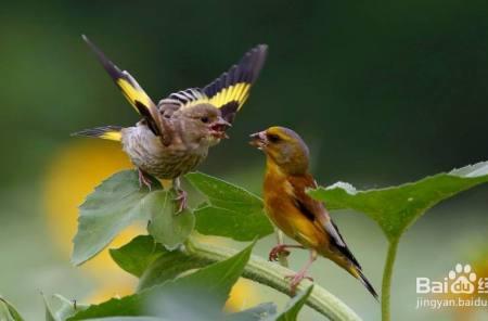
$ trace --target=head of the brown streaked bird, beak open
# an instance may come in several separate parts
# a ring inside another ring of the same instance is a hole
[[[198,104],[181,111],[184,139],[190,142],[217,144],[228,138],[231,124],[222,118],[220,110],[210,104]]]

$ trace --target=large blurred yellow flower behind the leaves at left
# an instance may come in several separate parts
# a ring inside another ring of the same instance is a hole
[[[78,206],[102,180],[130,167],[119,145],[102,140],[74,140],[54,154],[46,174],[43,203],[50,234],[66,258],[73,249]],[[121,246],[142,232],[140,227],[130,227],[111,246]],[[107,251],[88,261],[81,269],[113,291],[118,292],[114,285],[119,284],[120,294],[126,294],[128,284],[134,282],[113,262]]]

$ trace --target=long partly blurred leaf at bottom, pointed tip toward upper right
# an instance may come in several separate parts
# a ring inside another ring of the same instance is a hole
[[[206,317],[220,313],[230,290],[249,259],[253,246],[254,243],[235,256],[189,275],[120,299],[113,298],[90,306],[68,320],[118,316],[155,316],[178,320],[192,320],[189,316],[200,316],[200,320],[211,320]]]

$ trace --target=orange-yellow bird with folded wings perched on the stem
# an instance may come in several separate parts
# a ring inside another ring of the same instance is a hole
[[[299,243],[278,244],[270,252],[270,260],[277,260],[280,254],[288,254],[287,248],[310,251],[307,265],[298,273],[291,275],[292,292],[295,292],[303,279],[311,280],[307,270],[317,256],[321,255],[359,279],[377,299],[376,292],[362,273],[361,266],[347,247],[324,205],[306,192],[307,189],[317,188],[317,183],[309,174],[309,151],[301,138],[284,127],[270,127],[251,138],[251,144],[266,154],[266,213],[280,230]]]

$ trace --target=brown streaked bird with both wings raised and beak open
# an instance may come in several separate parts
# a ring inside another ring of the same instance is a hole
[[[236,65],[203,89],[174,92],[156,105],[128,72],[119,69],[87,37],[82,38],[142,119],[133,127],[104,126],[74,134],[120,142],[139,170],[140,184],[151,188],[146,175],[172,180],[182,210],[187,193],[181,190],[179,178],[201,164],[210,146],[227,138],[226,130],[265,64],[267,46],[249,50]]]

